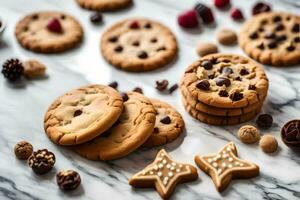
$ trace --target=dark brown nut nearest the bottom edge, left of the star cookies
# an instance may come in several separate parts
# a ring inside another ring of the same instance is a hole
[[[56,174],[56,182],[62,190],[74,190],[80,185],[81,178],[74,170],[62,170]]]

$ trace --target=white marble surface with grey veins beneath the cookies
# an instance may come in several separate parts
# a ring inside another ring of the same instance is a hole
[[[203,1],[204,2],[204,1]],[[212,4],[212,1],[206,1]],[[269,1],[274,10],[298,13],[300,9],[282,1]],[[217,27],[203,31],[184,31],[177,26],[176,16],[194,5],[194,0],[135,0],[135,5],[120,12],[104,14],[105,23],[94,26],[89,22],[90,11],[79,8],[73,0],[0,0],[0,15],[8,26],[0,43],[0,63],[7,58],[40,59],[48,66],[48,78],[11,85],[0,76],[0,199],[160,199],[152,189],[132,189],[127,181],[141,170],[162,148],[139,150],[124,159],[112,162],[91,162],[68,149],[51,143],[43,131],[43,115],[55,97],[87,83],[109,83],[117,80],[120,90],[141,86],[149,97],[170,102],[182,113],[186,122],[185,134],[166,145],[166,150],[178,161],[193,163],[195,154],[215,153],[228,141],[234,141],[240,157],[260,166],[261,174],[249,180],[236,180],[222,194],[210,178],[199,170],[199,180],[177,187],[173,199],[299,199],[300,153],[288,149],[280,140],[280,127],[288,120],[300,117],[300,66],[272,68],[265,66],[270,90],[264,112],[274,117],[274,126],[262,133],[271,133],[279,141],[277,153],[267,155],[257,144],[244,145],[235,136],[239,126],[214,127],[193,120],[180,102],[180,92],[163,95],[154,88],[155,80],[169,79],[177,83],[184,69],[195,59],[195,46],[201,41],[214,41],[222,27],[238,31],[229,12],[216,11]],[[235,0],[247,17],[254,1]],[[83,44],[60,55],[40,55],[22,49],[14,37],[16,22],[26,13],[40,10],[61,10],[76,16],[85,31]],[[215,9],[214,9],[215,10]],[[128,73],[109,66],[99,52],[100,35],[114,22],[134,16],[145,16],[168,25],[178,38],[178,59],[168,67],[149,73]],[[236,47],[222,47],[221,52],[243,54]],[[253,122],[251,122],[253,123]],[[15,159],[13,146],[19,140],[30,141],[36,149],[48,148],[57,156],[55,169],[44,176],[33,174],[26,163]],[[55,182],[57,170],[72,168],[82,177],[81,187],[70,193],[61,192]]]

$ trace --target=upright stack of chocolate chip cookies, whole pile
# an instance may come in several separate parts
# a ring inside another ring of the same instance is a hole
[[[180,83],[185,109],[201,122],[233,125],[260,112],[268,79],[256,62],[232,54],[210,54],[187,68]]]

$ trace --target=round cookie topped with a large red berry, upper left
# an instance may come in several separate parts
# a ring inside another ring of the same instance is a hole
[[[37,12],[18,22],[15,35],[26,49],[58,53],[75,47],[83,38],[79,22],[61,12]]]

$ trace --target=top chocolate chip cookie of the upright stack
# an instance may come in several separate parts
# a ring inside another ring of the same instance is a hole
[[[233,54],[207,55],[188,67],[181,80],[192,98],[219,108],[262,102],[269,82],[256,62]]]

